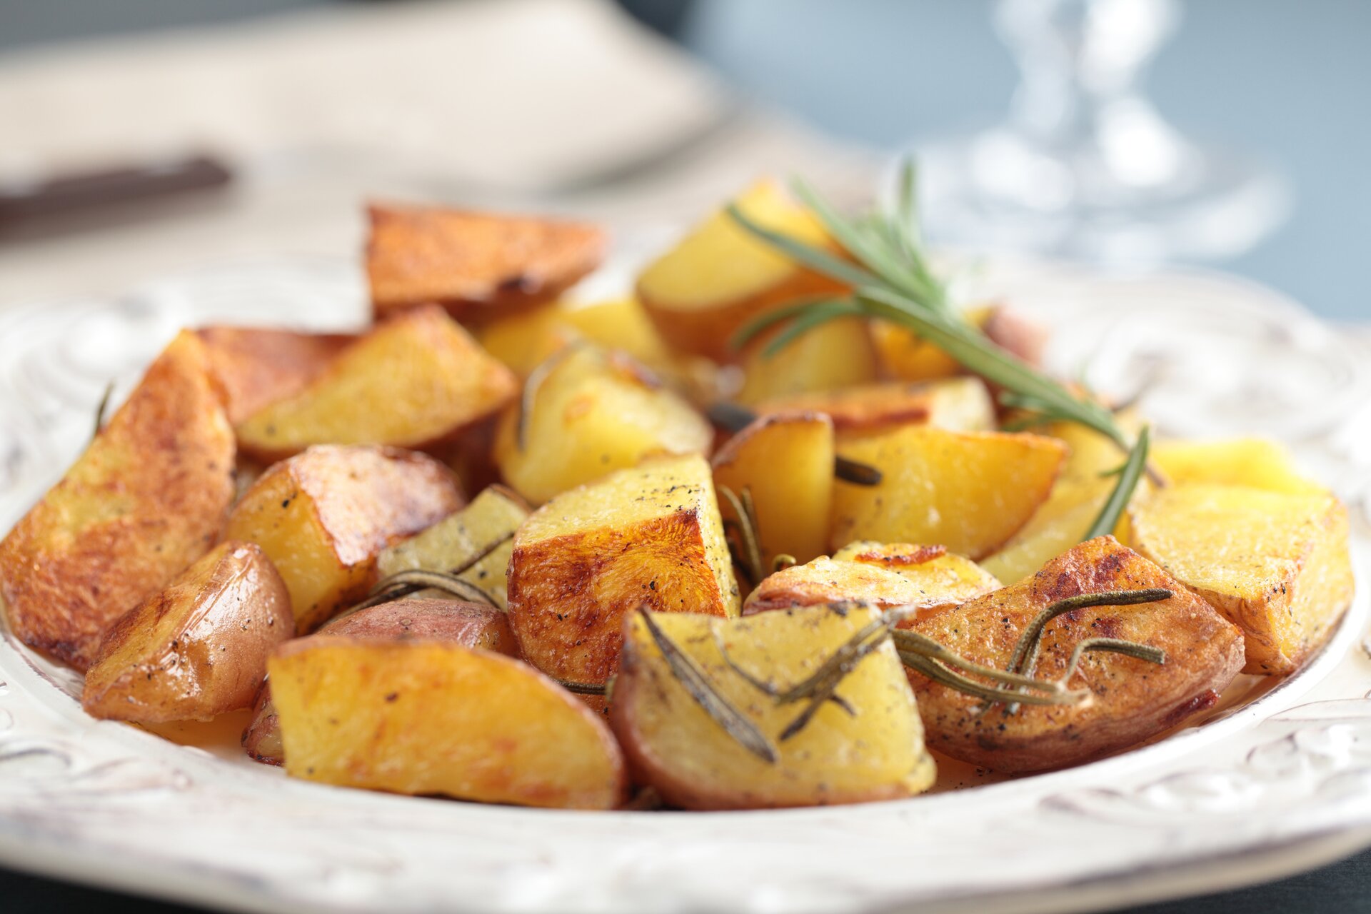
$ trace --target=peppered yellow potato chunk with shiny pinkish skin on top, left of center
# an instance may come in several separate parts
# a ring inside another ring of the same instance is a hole
[[[223,536],[262,547],[303,634],[366,593],[381,549],[459,507],[457,480],[432,458],[318,445],[267,470],[233,508]]]

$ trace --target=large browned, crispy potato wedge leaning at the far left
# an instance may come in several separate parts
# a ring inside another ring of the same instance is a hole
[[[67,474],[0,541],[25,644],[78,670],[104,630],[210,548],[233,499],[233,430],[182,332]]]

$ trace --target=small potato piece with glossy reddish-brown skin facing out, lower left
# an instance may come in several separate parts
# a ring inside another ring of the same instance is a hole
[[[110,626],[81,704],[138,724],[208,721],[251,707],[266,658],[295,634],[291,597],[251,543],[221,543]]]

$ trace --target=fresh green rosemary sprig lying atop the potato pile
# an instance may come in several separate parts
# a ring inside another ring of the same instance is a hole
[[[729,215],[747,232],[791,259],[853,286],[843,308],[835,307],[832,299],[824,299],[773,311],[744,326],[733,344],[740,347],[780,323],[803,321],[806,329],[813,329],[853,314],[882,318],[912,329],[960,365],[999,385],[1010,396],[1021,397],[1043,419],[1079,422],[1100,432],[1120,449],[1130,451],[1127,436],[1108,408],[1072,393],[1061,382],[1001,349],[950,307],[945,286],[934,277],[923,254],[914,211],[916,184],[914,166],[906,162],[894,210],[853,221],[838,214],[808,184],[795,182],[797,195],[818,217],[829,236],[856,259],[856,264],[766,229],[731,206]]]

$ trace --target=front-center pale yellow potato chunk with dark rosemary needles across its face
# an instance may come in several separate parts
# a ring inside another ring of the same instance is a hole
[[[725,660],[788,688],[864,625],[875,610],[812,606],[744,619],[654,614],[653,621],[750,721],[776,752],[758,758],[724,730],[670,670],[639,613],[625,618],[624,665],[610,724],[636,778],[686,808],[865,803],[912,796],[934,782],[903,669],[887,641],[838,688],[851,708],[824,703],[790,739],[803,703],[779,704]]]

